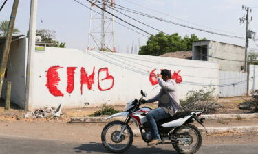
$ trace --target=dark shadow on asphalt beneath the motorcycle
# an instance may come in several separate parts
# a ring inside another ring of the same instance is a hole
[[[89,144],[81,144],[79,147],[74,148],[74,152],[76,153],[110,153],[105,149],[103,144],[101,143],[96,143],[96,142],[91,142]],[[136,154],[136,153],[148,153],[148,154],[178,154],[176,152],[172,145],[171,145],[171,150],[163,150],[162,146],[147,146],[144,148],[138,148],[137,146],[131,146],[127,151],[125,151],[127,154]]]

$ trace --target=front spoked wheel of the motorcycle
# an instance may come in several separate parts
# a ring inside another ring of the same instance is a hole
[[[113,121],[108,123],[102,133],[101,140],[105,148],[113,153],[122,153],[129,149],[133,143],[133,131],[126,125],[125,131],[122,131],[125,123],[122,121]]]

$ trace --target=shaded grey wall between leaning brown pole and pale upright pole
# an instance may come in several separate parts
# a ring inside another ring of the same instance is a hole
[[[11,101],[25,108],[26,38],[12,41],[7,63],[7,78],[3,81],[1,97],[6,98],[6,81],[12,82]]]

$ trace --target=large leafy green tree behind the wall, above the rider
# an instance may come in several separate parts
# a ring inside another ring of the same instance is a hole
[[[195,34],[191,37],[184,36],[182,38],[178,33],[165,35],[160,32],[155,36],[150,36],[147,40],[147,45],[140,47],[140,55],[162,55],[164,53],[175,51],[191,51],[192,43],[200,40]],[[206,40],[206,38],[202,39]]]

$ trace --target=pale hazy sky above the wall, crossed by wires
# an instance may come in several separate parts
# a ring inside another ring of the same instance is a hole
[[[89,5],[89,3],[85,0],[78,1]],[[241,18],[244,13],[246,13],[244,10],[242,10],[242,5],[250,6],[252,8],[252,13],[250,16],[253,18],[253,21],[250,23],[250,29],[257,32],[258,39],[257,0],[116,0],[117,4],[123,5],[133,10],[145,12],[160,18],[166,18],[167,20],[182,23],[184,25],[207,29],[193,25],[191,23],[180,21],[175,18],[171,18],[169,16],[158,14],[157,12],[153,12],[151,10],[138,7],[137,5],[133,5],[132,3],[128,3],[127,1],[139,3],[140,5],[153,8],[154,10],[170,14],[171,16],[175,16],[177,18],[181,18],[184,21],[235,33],[231,35],[241,34],[243,37],[245,36],[245,24],[239,24],[238,19]],[[0,5],[2,3],[3,0],[0,0]],[[0,20],[9,20],[12,3],[13,0],[8,0],[6,6],[0,12]],[[158,33],[158,31],[150,29],[144,25],[140,25],[135,21],[131,21],[131,19],[126,18],[121,14],[116,13],[116,15],[126,19],[130,23],[133,23],[146,31],[149,31],[151,34]],[[129,15],[157,29],[160,29],[167,34],[178,32],[180,36],[184,36],[186,34],[190,36],[194,33],[199,36],[199,38],[206,37],[208,40],[215,40],[218,42],[226,42],[242,46],[245,44],[245,40],[216,36],[214,34],[187,29],[169,23],[163,23],[161,21],[155,21],[154,19],[146,18],[143,16],[134,14]],[[28,31],[29,16],[30,0],[20,0],[15,26],[21,31],[21,34],[26,34],[26,31]],[[37,18],[37,29],[44,28],[56,31],[56,40],[66,42],[67,48],[87,48],[89,10],[76,3],[74,0],[38,0]],[[43,20],[43,23],[41,23],[41,20]],[[122,23],[122,21],[119,22]],[[123,24],[126,25],[125,23]],[[207,30],[228,34],[224,31],[217,31],[213,29]],[[133,42],[138,44],[139,39],[141,45],[145,44],[147,41],[146,37],[116,24],[116,46],[119,51],[126,52],[127,48],[131,49]],[[253,41],[250,41],[250,49],[258,49]]]

